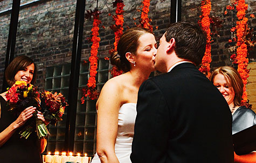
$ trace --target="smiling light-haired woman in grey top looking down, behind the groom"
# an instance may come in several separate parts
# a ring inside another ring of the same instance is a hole
[[[221,66],[212,72],[210,80],[229,104],[233,117],[232,134],[256,124],[256,114],[253,110],[241,106],[244,84],[236,69]],[[256,162],[256,152],[243,155],[234,152],[234,162]]]

